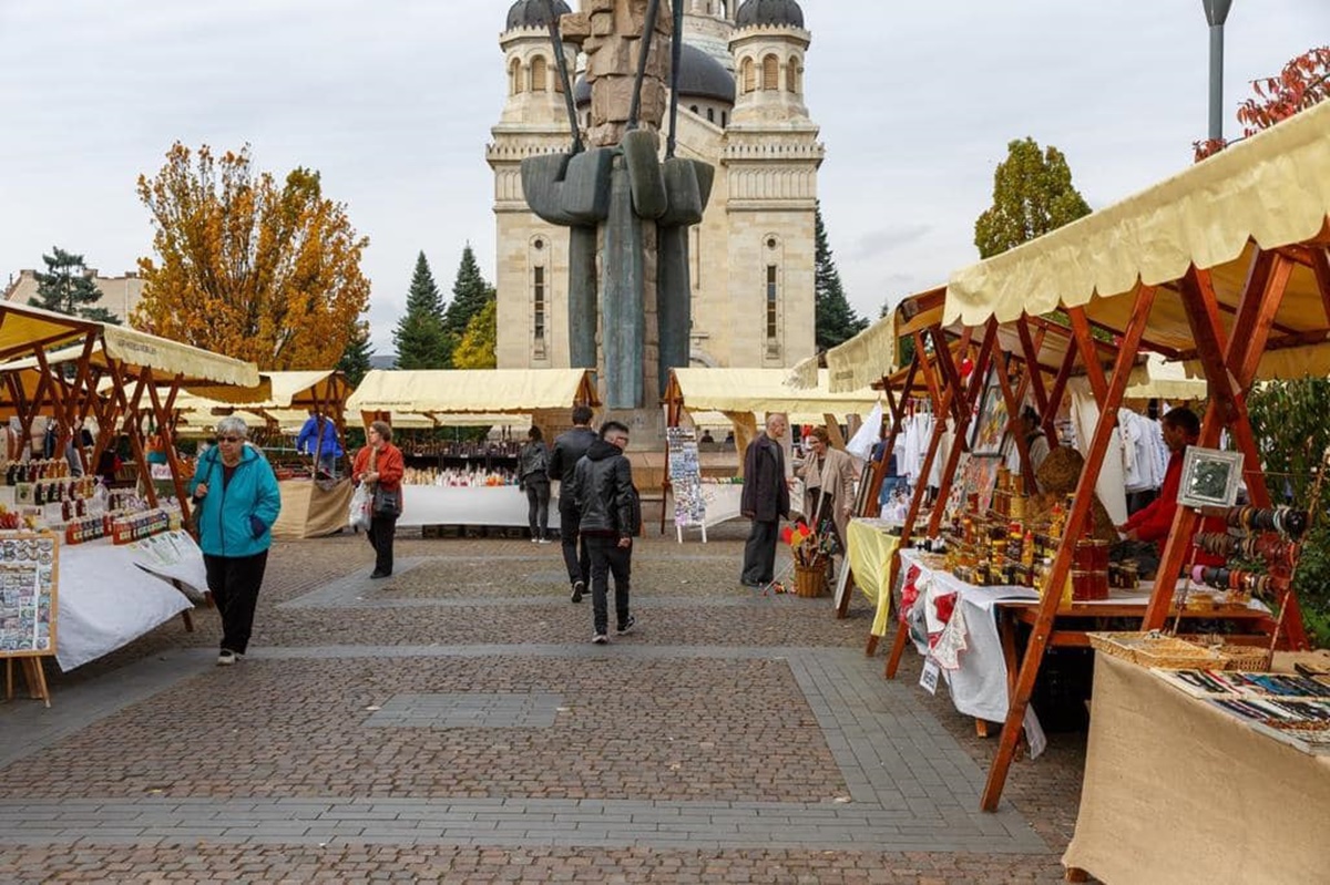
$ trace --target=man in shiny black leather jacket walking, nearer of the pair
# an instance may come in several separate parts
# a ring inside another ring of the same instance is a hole
[[[596,633],[592,642],[609,642],[609,573],[614,573],[614,614],[618,635],[633,631],[636,621],[628,610],[632,575],[633,536],[642,524],[641,502],[633,485],[633,465],[624,456],[628,428],[605,421],[600,439],[577,462],[573,496],[581,514],[581,537],[591,554],[591,601]]]

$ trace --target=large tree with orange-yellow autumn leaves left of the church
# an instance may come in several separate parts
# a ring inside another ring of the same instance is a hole
[[[370,300],[368,239],[317,171],[278,183],[253,169],[249,145],[214,155],[176,142],[156,177],[138,177],[138,198],[156,258],[138,259],[134,327],[261,369],[336,364]]]

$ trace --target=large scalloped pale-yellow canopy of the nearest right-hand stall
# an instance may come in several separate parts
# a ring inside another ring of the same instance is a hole
[[[1297,263],[1258,377],[1326,375],[1327,319],[1315,272],[1318,266],[1325,272],[1323,250],[1318,258],[1295,245],[1322,235],[1327,217],[1330,102],[1323,102],[1149,190],[956,271],[944,319],[979,326],[990,316],[1005,322],[1084,306],[1092,322],[1123,330],[1133,299],[1121,295],[1137,283],[1169,284],[1194,264],[1210,272],[1232,327],[1254,250],[1291,247]],[[1172,292],[1156,299],[1144,345],[1196,357],[1182,300]]]

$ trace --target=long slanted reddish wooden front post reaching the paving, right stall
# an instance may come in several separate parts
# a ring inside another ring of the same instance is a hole
[[[1076,482],[1076,502],[1067,518],[1063,540],[1057,547],[1057,555],[1053,558],[1052,574],[1048,577],[1048,583],[1039,602],[1039,618],[1029,634],[1029,643],[1025,647],[1025,656],[1021,660],[1020,675],[1016,678],[1016,688],[1011,694],[1007,722],[1003,724],[1001,738],[998,744],[998,755],[994,759],[992,768],[988,769],[988,783],[984,787],[980,800],[980,807],[984,811],[998,809],[998,801],[1001,799],[1001,791],[1007,783],[1007,772],[1016,756],[1016,743],[1020,739],[1020,730],[1025,722],[1025,708],[1029,704],[1031,694],[1035,691],[1035,679],[1039,676],[1044,651],[1053,633],[1053,621],[1057,617],[1057,605],[1061,599],[1060,589],[1071,573],[1076,538],[1080,537],[1089,520],[1091,504],[1095,500],[1095,481],[1099,477],[1100,466],[1104,464],[1108,441],[1116,431],[1117,408],[1123,403],[1123,391],[1127,389],[1127,380],[1132,373],[1136,351],[1140,345],[1141,335],[1145,332],[1150,308],[1154,306],[1154,294],[1156,288],[1153,286],[1138,286],[1136,290],[1130,314],[1132,320],[1123,335],[1123,344],[1113,364],[1112,380],[1108,383],[1105,399],[1100,401],[1099,421],[1095,425],[1095,435],[1085,454],[1085,466],[1081,469],[1080,480]],[[1081,351],[1088,361],[1095,360],[1095,349],[1091,342],[1081,343]]]

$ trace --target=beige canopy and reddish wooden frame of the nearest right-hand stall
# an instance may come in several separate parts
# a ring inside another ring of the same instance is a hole
[[[944,320],[991,328],[1027,315],[1067,311],[1077,344],[1091,327],[1117,336],[1111,373],[1087,361],[1103,419],[1067,514],[1080,536],[1132,359],[1149,349],[1185,361],[1208,383],[1198,445],[1228,429],[1256,508],[1270,508],[1244,395],[1261,377],[1326,373],[1330,352],[1330,104],[1302,112],[1174,178],[1037,241],[955,274]],[[1178,574],[1197,514],[1177,509],[1160,574]],[[1063,586],[1075,543],[1059,546],[1049,586]],[[1157,582],[1142,626],[1161,627],[1174,587]],[[1285,642],[1306,642],[1287,581],[1275,586]],[[1059,597],[1044,594],[1021,659],[1001,741],[983,796],[996,808],[1035,679],[1055,633]],[[1091,870],[1095,872],[1095,870]]]

